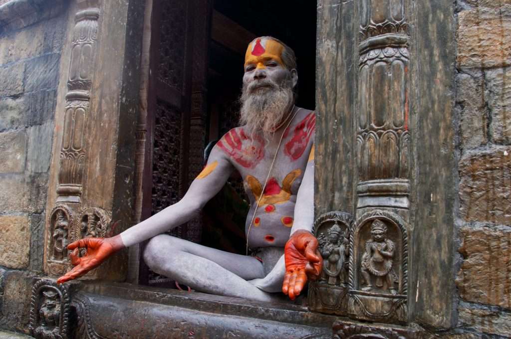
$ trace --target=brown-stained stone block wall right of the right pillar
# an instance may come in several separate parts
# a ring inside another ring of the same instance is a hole
[[[458,326],[511,335],[511,2],[458,0]]]

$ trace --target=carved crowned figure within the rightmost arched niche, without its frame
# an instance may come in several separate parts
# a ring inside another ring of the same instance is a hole
[[[397,294],[394,283],[398,277],[392,269],[396,246],[393,241],[387,238],[387,226],[380,220],[371,224],[371,240],[365,243],[365,252],[362,255],[361,273],[365,280],[365,287],[362,290],[373,289],[371,276],[374,277],[376,287],[387,288],[393,295]]]

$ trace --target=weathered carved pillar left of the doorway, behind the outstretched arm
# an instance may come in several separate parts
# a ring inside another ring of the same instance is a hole
[[[136,67],[141,50],[140,7],[128,0],[115,4],[76,0],[69,7],[47,201],[51,213],[45,235],[45,272],[53,277],[71,269],[69,243],[112,236],[131,225],[136,112],[140,109]],[[124,278],[125,271],[123,252],[86,277],[117,280]]]

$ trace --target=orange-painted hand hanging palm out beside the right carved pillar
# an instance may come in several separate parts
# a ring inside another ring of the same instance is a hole
[[[316,280],[321,273],[322,260],[318,240],[309,231],[298,230],[291,235],[284,249],[286,275],[282,292],[291,300],[298,296],[307,279]]]

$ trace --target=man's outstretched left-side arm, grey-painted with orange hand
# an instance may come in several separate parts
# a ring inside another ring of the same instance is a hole
[[[143,222],[111,238],[85,238],[69,244],[74,250],[70,257],[75,267],[57,282],[73,280],[98,267],[113,253],[164,233],[188,222],[223,187],[234,166],[215,146],[203,171],[195,178],[184,197],[174,205],[154,214]],[[87,255],[78,257],[78,248],[86,248]]]

